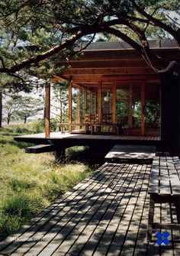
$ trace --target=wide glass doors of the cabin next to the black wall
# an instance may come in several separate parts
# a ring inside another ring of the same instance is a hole
[[[159,135],[159,99],[159,84],[117,83],[116,122],[124,134]]]

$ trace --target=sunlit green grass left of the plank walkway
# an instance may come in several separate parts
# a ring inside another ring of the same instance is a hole
[[[25,154],[27,144],[13,140],[23,133],[30,128],[0,128],[0,239],[92,173],[85,164],[58,165],[51,153]]]

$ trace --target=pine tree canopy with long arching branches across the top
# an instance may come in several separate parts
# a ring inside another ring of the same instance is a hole
[[[0,73],[16,83],[27,74],[47,79],[66,67],[61,60],[76,56],[98,34],[111,34],[157,59],[149,39],[173,38],[180,46],[179,24],[169,18],[179,7],[178,0],[1,1]]]

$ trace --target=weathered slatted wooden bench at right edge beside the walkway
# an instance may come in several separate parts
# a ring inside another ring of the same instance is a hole
[[[147,241],[152,241],[153,228],[180,230],[180,161],[178,157],[154,157],[149,179],[149,219]],[[177,223],[153,222],[156,203],[175,203]]]

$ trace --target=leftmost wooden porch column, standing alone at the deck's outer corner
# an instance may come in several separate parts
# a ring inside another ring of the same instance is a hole
[[[45,138],[50,138],[50,83],[45,88]]]

